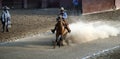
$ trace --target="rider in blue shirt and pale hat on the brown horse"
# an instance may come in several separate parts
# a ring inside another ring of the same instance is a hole
[[[70,33],[71,30],[70,30],[70,28],[68,27],[68,23],[66,22],[67,13],[65,12],[65,10],[64,10],[63,7],[61,7],[61,9],[60,9],[59,15],[62,15],[62,19],[63,19],[63,21],[64,21],[64,23],[65,23],[65,28],[66,28],[66,29],[68,30],[68,32]],[[60,19],[60,17],[58,17],[56,20],[58,21],[59,19]],[[51,30],[52,33],[55,32],[56,28],[57,28],[57,25],[55,25],[55,28]]]

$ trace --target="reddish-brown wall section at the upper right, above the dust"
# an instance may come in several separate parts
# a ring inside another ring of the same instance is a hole
[[[83,0],[83,13],[109,10],[114,7],[114,0]]]

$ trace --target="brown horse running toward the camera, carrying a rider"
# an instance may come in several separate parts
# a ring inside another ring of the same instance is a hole
[[[54,48],[56,47],[56,45],[59,45],[59,47],[63,45],[63,40],[65,40],[66,35],[68,33],[68,30],[65,28],[65,22],[63,21],[62,17],[60,17],[56,26],[56,41],[54,42]],[[65,41],[68,44],[68,40]]]

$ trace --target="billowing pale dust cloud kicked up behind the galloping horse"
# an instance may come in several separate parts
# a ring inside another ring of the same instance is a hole
[[[85,43],[96,39],[109,38],[117,36],[119,30],[115,26],[111,26],[102,21],[95,22],[76,22],[69,25],[71,33],[68,35],[74,43]]]

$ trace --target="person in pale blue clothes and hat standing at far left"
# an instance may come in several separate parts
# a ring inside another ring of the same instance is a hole
[[[6,28],[6,32],[9,32],[8,28],[11,27],[11,15],[9,13],[9,9],[7,6],[4,6],[2,11],[2,15],[1,15],[1,22],[2,22],[2,32],[5,31]]]

